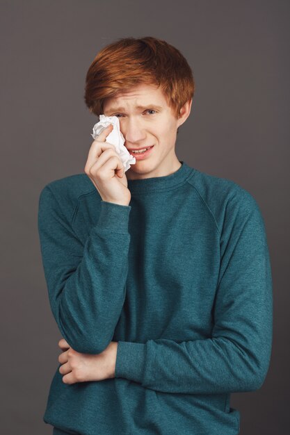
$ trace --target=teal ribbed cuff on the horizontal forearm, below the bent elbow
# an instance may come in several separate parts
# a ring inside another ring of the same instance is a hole
[[[118,341],[115,377],[124,377],[142,384],[146,358],[146,345]]]

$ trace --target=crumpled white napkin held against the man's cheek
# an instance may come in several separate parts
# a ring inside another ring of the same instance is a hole
[[[94,139],[97,139],[97,136],[99,136],[102,131],[106,129],[106,127],[110,124],[113,124],[113,130],[106,137],[106,142],[114,145],[115,150],[118,152],[120,159],[124,165],[124,172],[126,172],[127,170],[129,170],[129,167],[131,167],[131,165],[134,165],[134,163],[136,163],[136,158],[129,153],[126,147],[124,147],[125,140],[122,132],[120,131],[119,118],[116,116],[99,115],[99,122],[97,122],[97,124],[93,126],[91,136]]]

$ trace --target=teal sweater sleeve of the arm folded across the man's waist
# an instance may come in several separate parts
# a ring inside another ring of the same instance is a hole
[[[118,342],[115,376],[164,393],[255,391],[272,345],[272,278],[264,220],[250,196],[230,206],[220,234],[220,273],[210,338]]]

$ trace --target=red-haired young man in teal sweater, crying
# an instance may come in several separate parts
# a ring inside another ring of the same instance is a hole
[[[117,116],[85,173],[40,194],[49,302],[63,338],[44,420],[54,434],[235,435],[272,341],[271,265],[249,192],[179,161],[194,82],[180,52],[125,38],[90,65],[86,104]],[[144,154],[134,154],[148,148]]]

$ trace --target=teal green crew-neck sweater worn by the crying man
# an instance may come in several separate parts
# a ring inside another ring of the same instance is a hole
[[[115,378],[51,381],[46,423],[83,435],[234,435],[230,393],[255,391],[272,345],[264,220],[247,190],[181,161],[128,180],[129,206],[86,174],[40,193],[51,311],[77,352],[118,341]]]

